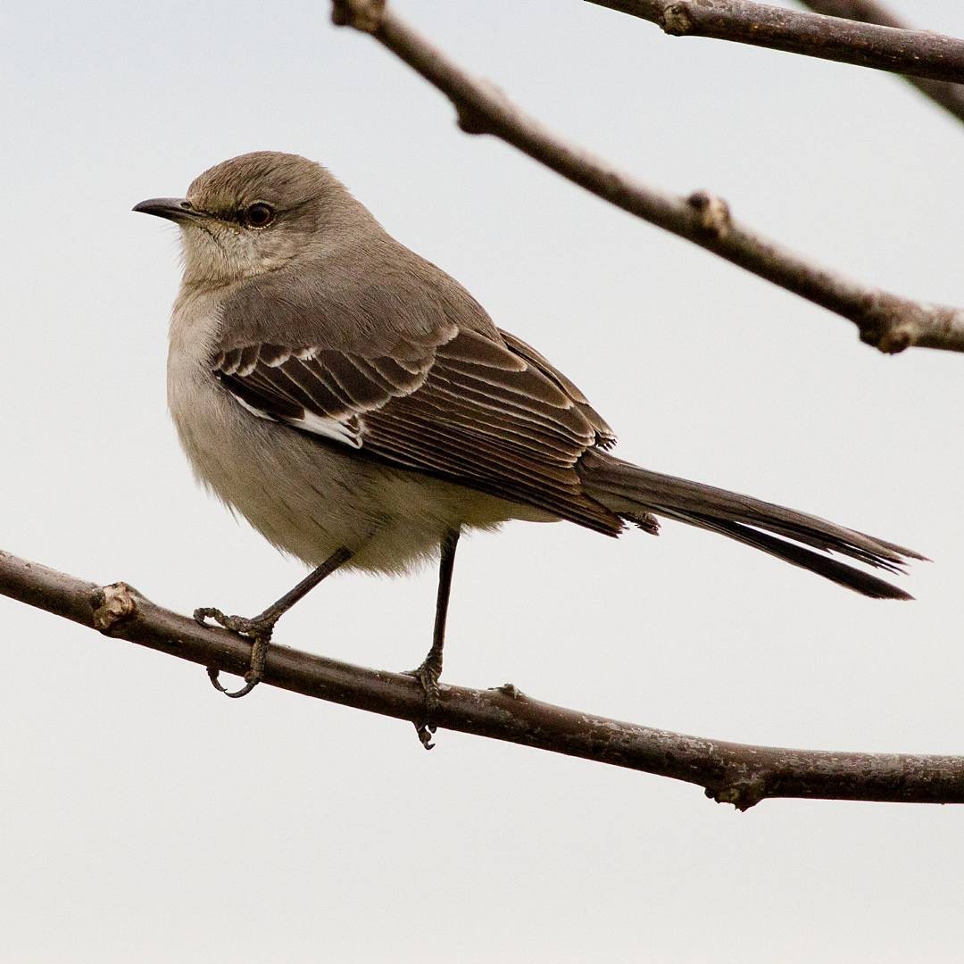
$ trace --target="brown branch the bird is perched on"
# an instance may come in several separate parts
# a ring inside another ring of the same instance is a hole
[[[202,627],[123,582],[97,586],[0,551],[0,594],[209,669],[243,675],[250,665],[249,640]],[[397,719],[420,723],[424,716],[424,695],[411,677],[278,645],[268,650],[263,682]],[[964,757],[786,750],[684,736],[540,703],[511,684],[442,685],[437,722],[697,784],[740,810],[765,797],[964,803]]]

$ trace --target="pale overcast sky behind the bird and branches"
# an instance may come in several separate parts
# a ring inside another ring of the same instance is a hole
[[[964,34],[950,0],[903,0]],[[897,79],[672,40],[576,0],[397,4],[642,180],[870,282],[964,303],[964,130]],[[463,540],[445,678],[687,733],[964,752],[960,355],[853,326],[490,138],[328,4],[39,5],[0,31],[0,547],[181,611],[303,575],[195,486],[165,409],[176,229],[247,150],[328,165],[563,368],[618,454],[934,560],[876,603],[666,523]],[[435,574],[338,576],[276,638],[405,669]],[[960,960],[964,809],[764,802],[202,670],[0,599],[0,961]]]

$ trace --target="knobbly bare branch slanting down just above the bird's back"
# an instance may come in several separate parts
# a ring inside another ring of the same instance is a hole
[[[911,301],[851,281],[738,224],[726,202],[706,191],[685,199],[663,194],[566,144],[389,13],[384,0],[335,0],[333,19],[371,34],[434,84],[455,106],[467,133],[493,134],[630,214],[843,315],[880,351],[894,354],[911,346],[964,351],[964,309]]]

